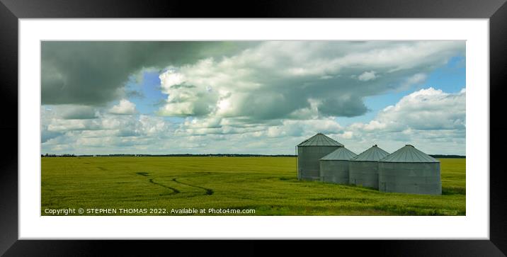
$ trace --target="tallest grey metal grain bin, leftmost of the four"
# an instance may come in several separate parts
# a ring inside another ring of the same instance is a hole
[[[319,159],[343,147],[343,144],[317,133],[297,145],[297,178],[303,181],[319,181]]]

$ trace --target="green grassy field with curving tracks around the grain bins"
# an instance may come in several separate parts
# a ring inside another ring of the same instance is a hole
[[[41,215],[64,208],[165,209],[162,215],[188,215],[170,213],[182,208],[255,210],[248,215],[465,215],[465,159],[440,161],[443,195],[411,195],[297,181],[295,157],[42,158]]]

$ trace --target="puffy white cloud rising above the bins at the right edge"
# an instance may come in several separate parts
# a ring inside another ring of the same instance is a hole
[[[431,154],[465,154],[465,112],[465,88],[457,93],[424,88],[387,106],[370,122],[345,127],[353,134],[344,138],[355,145],[383,144],[389,151],[410,143]]]

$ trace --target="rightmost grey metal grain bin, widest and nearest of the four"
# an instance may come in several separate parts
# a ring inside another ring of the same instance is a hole
[[[407,144],[379,161],[382,192],[441,195],[440,161]]]

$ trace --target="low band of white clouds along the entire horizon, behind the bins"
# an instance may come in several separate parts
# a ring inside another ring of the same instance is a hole
[[[246,123],[236,118],[187,118],[172,123],[151,115],[109,115],[64,120],[45,110],[46,152],[97,153],[258,153],[291,154],[316,132],[360,153],[372,144],[393,152],[414,144],[428,154],[465,154],[465,88],[445,93],[425,88],[381,110],[370,122],[346,127],[336,118]]]

